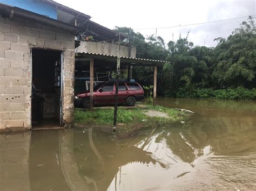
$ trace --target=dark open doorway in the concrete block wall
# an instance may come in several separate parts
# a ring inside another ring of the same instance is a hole
[[[61,51],[32,49],[32,128],[56,128],[63,124]]]

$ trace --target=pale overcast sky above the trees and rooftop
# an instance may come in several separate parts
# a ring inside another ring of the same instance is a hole
[[[169,27],[193,23],[211,22],[256,14],[256,1],[232,0],[55,0],[72,9],[90,15],[91,20],[109,29],[115,26],[131,27],[145,37],[156,34],[156,29],[145,28]],[[215,46],[217,37],[228,37],[239,23],[247,18],[224,22],[158,29],[157,36],[164,38],[166,44],[174,39],[186,37],[188,30],[194,45]],[[138,29],[138,30],[136,30]]]

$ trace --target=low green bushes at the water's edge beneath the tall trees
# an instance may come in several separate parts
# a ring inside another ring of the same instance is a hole
[[[215,98],[220,100],[256,100],[256,88],[246,89],[238,87],[235,89],[217,89],[213,88],[179,88],[176,97],[192,97],[192,98]]]

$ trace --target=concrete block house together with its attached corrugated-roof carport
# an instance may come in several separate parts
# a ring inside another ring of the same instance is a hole
[[[135,47],[118,45],[127,37],[90,18],[52,0],[0,0],[0,131],[71,126],[74,87],[111,79],[118,60],[127,80],[132,67],[154,67],[156,104],[163,61],[136,58]]]

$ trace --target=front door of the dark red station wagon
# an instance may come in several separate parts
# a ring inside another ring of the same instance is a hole
[[[109,82],[96,91],[95,104],[114,103],[114,98],[113,82]]]

